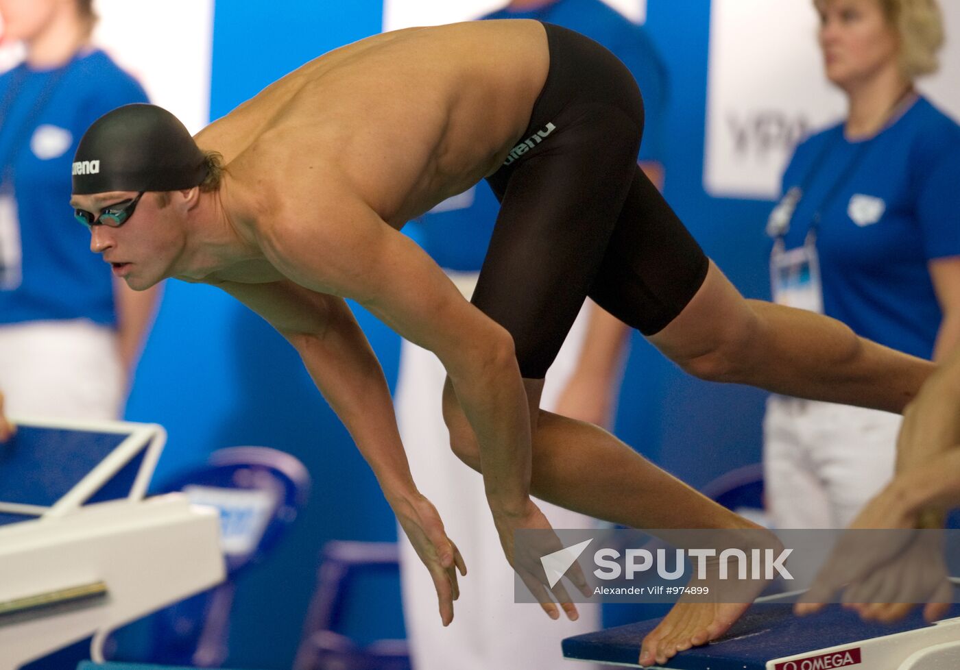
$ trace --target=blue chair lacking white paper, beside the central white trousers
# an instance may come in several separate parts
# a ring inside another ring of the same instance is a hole
[[[405,639],[361,645],[335,630],[351,582],[361,572],[399,570],[396,543],[332,541],[321,556],[294,670],[411,670]]]

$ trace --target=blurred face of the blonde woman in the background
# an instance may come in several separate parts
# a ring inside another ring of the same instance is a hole
[[[878,0],[820,0],[819,42],[827,78],[850,90],[897,64],[900,35]]]

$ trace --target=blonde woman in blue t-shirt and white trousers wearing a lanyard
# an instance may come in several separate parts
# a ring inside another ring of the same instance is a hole
[[[919,94],[943,42],[934,0],[815,0],[847,118],[783,174],[774,299],[939,359],[960,335],[960,126]],[[848,525],[895,472],[900,416],[780,396],[767,405],[767,502],[780,527]],[[908,451],[900,470],[923,462]]]

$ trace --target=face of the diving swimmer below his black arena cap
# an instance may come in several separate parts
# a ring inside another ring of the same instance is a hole
[[[123,209],[136,196],[132,191],[73,196],[70,204],[96,217],[105,209]],[[90,226],[90,251],[100,254],[110,264],[113,275],[127,282],[131,289],[149,289],[172,273],[184,246],[177,196],[177,192],[148,192],[121,226]]]

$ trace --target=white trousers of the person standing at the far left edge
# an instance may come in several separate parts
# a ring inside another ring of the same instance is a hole
[[[11,416],[117,419],[124,374],[113,329],[86,319],[0,326],[0,391]]]

